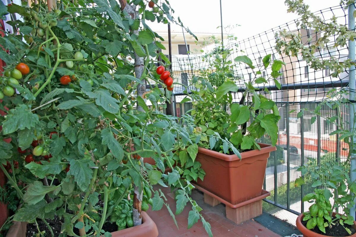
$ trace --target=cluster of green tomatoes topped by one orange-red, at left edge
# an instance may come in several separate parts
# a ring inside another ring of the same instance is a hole
[[[19,63],[16,68],[11,71],[6,71],[4,77],[1,79],[3,87],[0,91],[0,99],[3,99],[4,96],[13,96],[15,93],[15,86],[19,86],[19,80],[22,79],[23,75],[26,75],[29,72],[30,68],[24,63]]]

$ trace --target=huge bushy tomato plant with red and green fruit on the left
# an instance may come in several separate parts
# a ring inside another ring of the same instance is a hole
[[[81,236],[104,235],[104,223],[114,217],[117,228],[139,225],[142,220],[133,215],[141,212],[142,204],[143,210],[150,205],[153,210],[169,209],[161,190],[152,187],[161,184],[179,191],[177,213],[189,202],[192,211],[187,218],[191,223],[203,221],[211,235],[201,209],[188,195],[193,186],[182,175],[184,167],[173,165],[179,152],[188,148],[185,158],[193,165],[199,139],[218,137],[195,134],[189,115],[176,118],[160,112],[171,99],[155,78],[157,52],[164,47],[145,22],[151,13],[147,1],[134,3],[63,0],[53,11],[43,1],[8,7],[24,19],[9,22],[23,29],[19,35],[0,37],[6,50],[0,50],[6,63],[0,105],[9,109],[0,117],[0,162],[9,167],[0,167],[22,204],[11,220],[38,223],[56,216],[63,220],[64,236],[78,236],[74,227]],[[165,11],[164,16],[155,14],[158,23],[175,22],[166,1],[153,6]],[[134,19],[125,12],[128,8],[136,12]],[[165,79],[168,64],[162,65]],[[151,80],[156,85],[146,90]],[[7,138],[10,143],[4,141]],[[32,154],[25,156],[18,148]],[[151,157],[155,165],[143,157]],[[19,167],[12,169],[16,162]],[[172,172],[164,174],[167,167]],[[114,208],[127,201],[132,218],[127,211],[125,217],[117,215]]]

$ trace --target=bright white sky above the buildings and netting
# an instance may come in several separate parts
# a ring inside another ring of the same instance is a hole
[[[192,32],[220,33],[220,1],[219,0],[169,0],[175,13],[183,24]],[[223,26],[234,27],[234,33],[240,40],[282,25],[298,18],[287,13],[284,0],[221,0],[223,9]],[[311,11],[318,11],[339,5],[340,0],[304,0],[310,5]],[[167,25],[152,25],[155,31],[167,31]],[[172,25],[172,31],[182,28]]]

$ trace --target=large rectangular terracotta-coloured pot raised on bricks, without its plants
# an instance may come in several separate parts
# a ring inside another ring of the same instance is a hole
[[[197,184],[231,204],[261,196],[269,153],[277,149],[259,145],[261,150],[241,152],[241,160],[236,155],[199,147],[196,161],[206,174]]]

